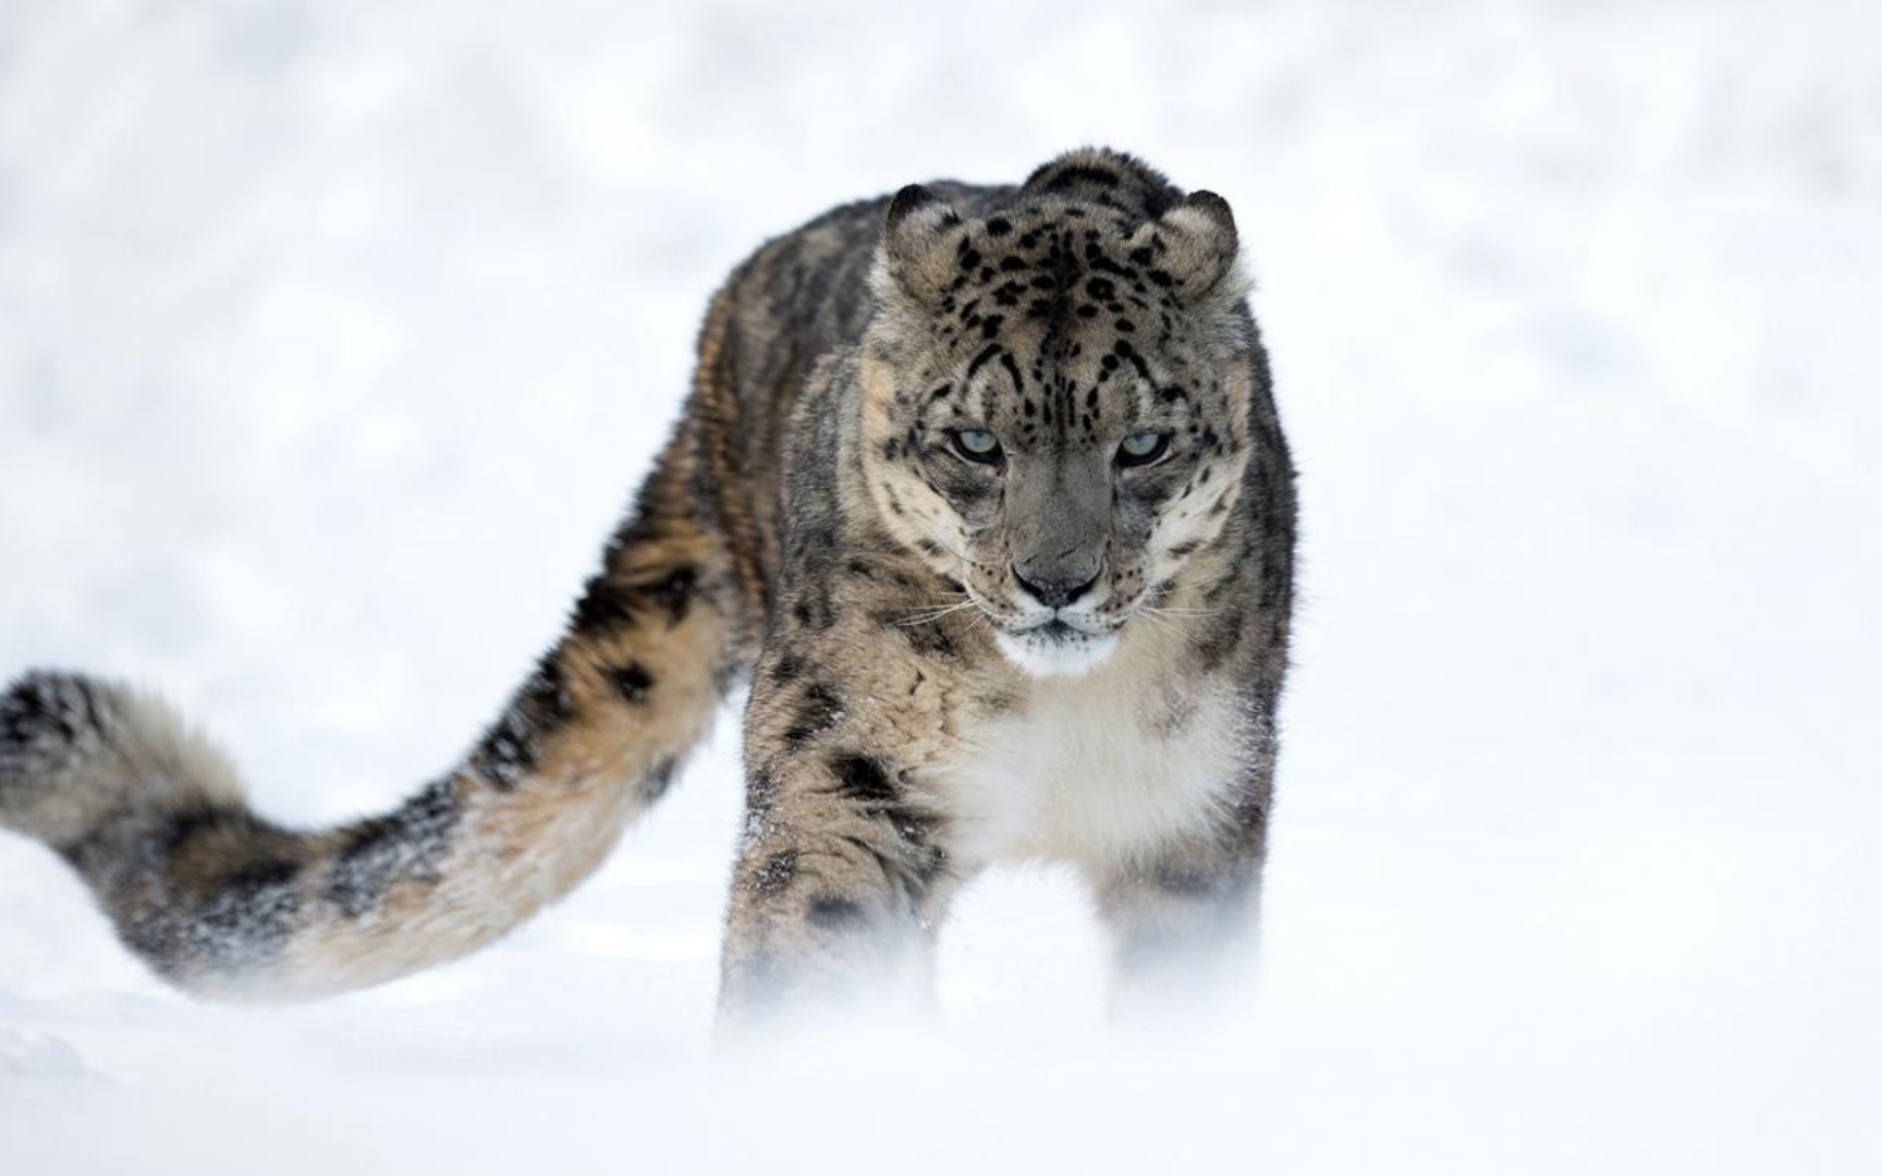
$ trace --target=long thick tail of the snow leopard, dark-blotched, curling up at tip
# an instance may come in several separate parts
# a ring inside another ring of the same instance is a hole
[[[595,871],[666,790],[749,657],[685,438],[614,536],[563,640],[444,777],[322,832],[256,817],[230,762],[151,694],[34,672],[0,694],[0,828],[92,886],[169,982],[305,999],[463,956]]]

